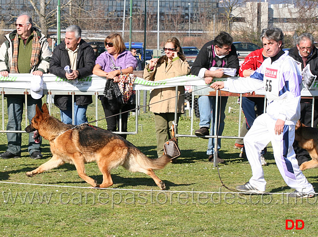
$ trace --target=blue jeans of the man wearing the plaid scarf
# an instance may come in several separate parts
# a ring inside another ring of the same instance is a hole
[[[7,95],[7,112],[8,123],[6,130],[18,131],[21,130],[23,104],[25,102],[24,95]],[[35,106],[42,107],[42,99],[35,100],[30,95],[27,96],[27,110],[28,120],[31,123],[32,118],[35,116]],[[21,155],[21,133],[6,133],[8,139],[7,151],[12,154]],[[29,133],[28,152],[32,154],[34,151],[41,152],[42,138],[40,137],[40,143],[35,143],[33,139],[33,133]]]

